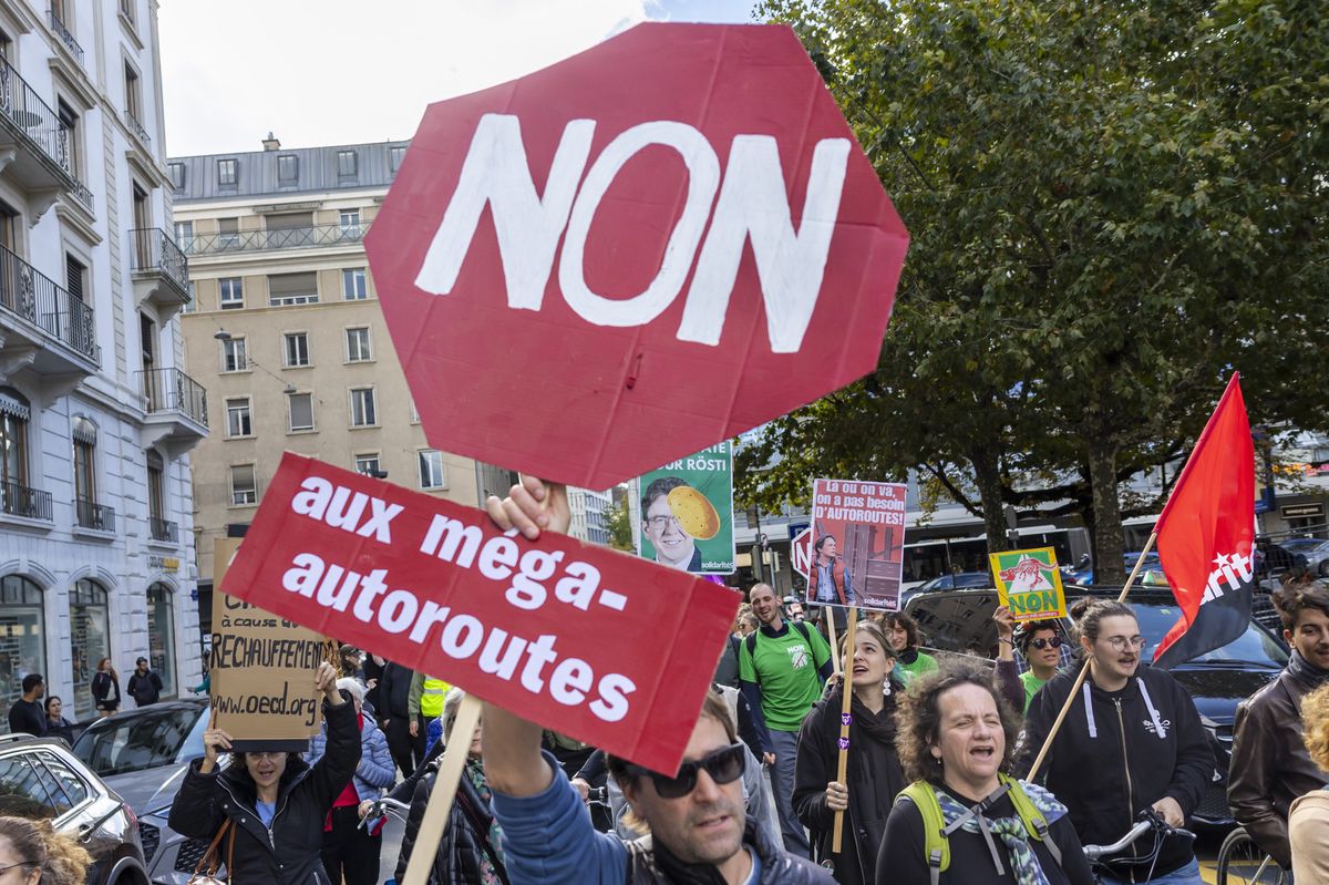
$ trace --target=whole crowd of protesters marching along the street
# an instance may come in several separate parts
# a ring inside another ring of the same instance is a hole
[[[488,509],[528,536],[566,525],[563,492],[537,480]],[[171,825],[214,838],[230,821],[246,881],[372,885],[376,800],[391,789],[409,807],[400,880],[441,753],[461,740],[462,776],[428,864],[440,885],[1199,885],[1184,824],[1215,757],[1191,696],[1144,663],[1131,606],[1080,601],[1070,630],[998,609],[985,659],[930,655],[918,625],[894,613],[857,621],[833,650],[816,610],[796,602],[750,589],[676,772],[492,704],[459,735],[460,690],[344,647],[340,672],[318,675],[326,723],[310,752],[247,748],[222,771],[229,736],[210,728]],[[1292,663],[1241,707],[1231,803],[1280,866],[1329,881],[1329,591],[1300,583],[1276,605]],[[1150,832],[1091,866],[1086,846],[1118,841],[1142,813]]]

